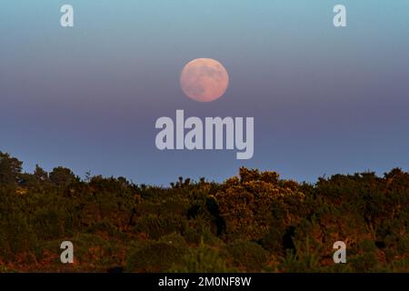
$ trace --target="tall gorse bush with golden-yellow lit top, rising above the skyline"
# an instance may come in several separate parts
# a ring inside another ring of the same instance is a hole
[[[279,184],[274,172],[259,174],[257,170],[240,168],[240,178],[228,179],[216,194],[225,235],[230,239],[261,239],[272,226],[274,204],[281,203],[283,198],[302,201],[304,195],[294,182]]]

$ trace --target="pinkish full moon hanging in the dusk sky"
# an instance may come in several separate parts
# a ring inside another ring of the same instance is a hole
[[[229,85],[229,75],[216,60],[196,58],[183,68],[180,85],[189,98],[198,102],[212,102],[224,95]]]

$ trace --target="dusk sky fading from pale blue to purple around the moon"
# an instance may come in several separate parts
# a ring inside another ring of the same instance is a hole
[[[74,27],[60,7],[74,7]],[[346,7],[347,26],[333,25]],[[223,181],[240,166],[318,176],[409,170],[409,0],[3,0],[0,151],[51,171],[167,186]],[[183,93],[210,57],[230,83],[214,102]],[[160,151],[155,121],[254,117],[254,156]]]

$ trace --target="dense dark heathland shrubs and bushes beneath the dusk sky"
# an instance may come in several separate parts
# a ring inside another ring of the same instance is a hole
[[[314,185],[241,168],[223,184],[22,173],[0,152],[0,271],[407,272],[409,174]],[[60,262],[72,241],[75,263]],[[347,263],[334,264],[344,241]]]

